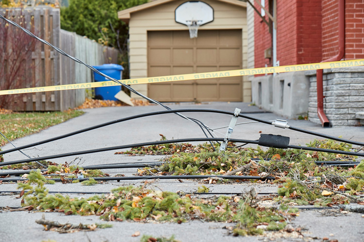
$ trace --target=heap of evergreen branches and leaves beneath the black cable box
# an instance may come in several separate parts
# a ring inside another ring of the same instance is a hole
[[[218,147],[218,145],[216,145]],[[314,140],[309,147],[353,150],[350,144],[332,140]],[[207,148],[207,149],[205,149]],[[154,147],[144,147],[143,152],[156,154]],[[364,204],[364,161],[357,167],[318,166],[314,161],[355,161],[356,157],[316,151],[269,148],[234,148],[225,153],[212,151],[209,144],[189,146],[189,151],[176,152],[164,159],[162,166],[138,169],[143,175],[240,175],[275,177],[279,185],[280,202],[333,206],[349,202]],[[361,150],[360,148],[354,150]],[[126,152],[128,153],[128,152]],[[254,160],[252,160],[255,158]],[[208,179],[207,182],[238,182]],[[240,181],[241,182],[241,181]],[[265,182],[265,181],[257,181]]]

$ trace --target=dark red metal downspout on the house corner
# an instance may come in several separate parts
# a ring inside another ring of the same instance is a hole
[[[340,61],[344,58],[345,54],[345,0],[339,0],[339,53],[325,61]],[[316,71],[316,83],[317,83],[317,115],[320,119],[323,127],[330,127],[330,122],[324,112],[324,90],[322,83],[323,70]]]

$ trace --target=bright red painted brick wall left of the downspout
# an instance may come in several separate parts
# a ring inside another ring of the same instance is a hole
[[[266,8],[268,0],[265,1]],[[255,7],[260,7],[255,3]],[[265,16],[268,21],[268,16]],[[255,13],[255,67],[272,66],[264,50],[272,45],[267,25]],[[336,28],[337,29],[337,28]],[[277,61],[280,65],[321,61],[321,0],[277,1]]]

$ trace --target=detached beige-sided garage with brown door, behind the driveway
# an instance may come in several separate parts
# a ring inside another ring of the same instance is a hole
[[[176,9],[196,2],[155,0],[118,12],[129,24],[131,78],[247,68],[246,2],[203,0],[213,9],[213,20],[191,38],[188,27],[177,21]],[[160,102],[250,102],[250,87],[246,76],[133,86]]]

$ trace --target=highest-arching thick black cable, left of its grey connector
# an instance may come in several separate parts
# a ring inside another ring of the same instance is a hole
[[[56,136],[56,137],[53,137],[53,138],[49,138],[49,139],[45,139],[45,140],[42,140],[42,141],[34,142],[32,144],[19,146],[17,148],[9,149],[9,150],[6,150],[6,151],[0,151],[0,155],[1,154],[6,154],[6,153],[9,153],[9,152],[13,152],[13,151],[18,151],[18,150],[30,148],[30,147],[33,147],[33,146],[36,146],[36,145],[45,144],[45,143],[55,141],[55,140],[58,140],[58,139],[62,139],[62,138],[66,138],[66,137],[69,137],[69,136],[74,136],[74,135],[81,134],[81,133],[86,132],[86,131],[98,129],[98,128],[101,128],[101,127],[105,127],[105,126],[115,124],[115,123],[119,123],[119,122],[123,122],[123,121],[129,121],[129,120],[133,120],[133,119],[149,117],[149,116],[154,116],[154,115],[167,114],[167,113],[174,113],[174,112],[179,112],[179,113],[183,113],[183,112],[211,112],[211,113],[234,115],[233,112],[229,112],[229,111],[218,110],[218,109],[202,109],[202,108],[193,108],[193,109],[182,108],[182,109],[161,110],[161,111],[155,111],[155,112],[150,112],[150,113],[142,113],[142,114],[129,116],[129,117],[126,117],[126,118],[117,119],[117,120],[114,120],[114,121],[108,121],[108,122],[100,123],[100,124],[97,124],[97,125],[94,125],[94,126],[91,126],[91,127],[88,127],[88,128],[84,128],[84,129],[81,129],[81,130],[77,130],[77,131],[65,134],[65,135]],[[258,119],[258,118],[250,117],[250,116],[243,115],[243,114],[239,114],[239,117],[254,120],[254,121],[260,121],[260,122],[264,122],[264,123],[267,123],[267,124],[272,123],[271,121],[266,121],[266,120],[263,120],[263,119]]]

